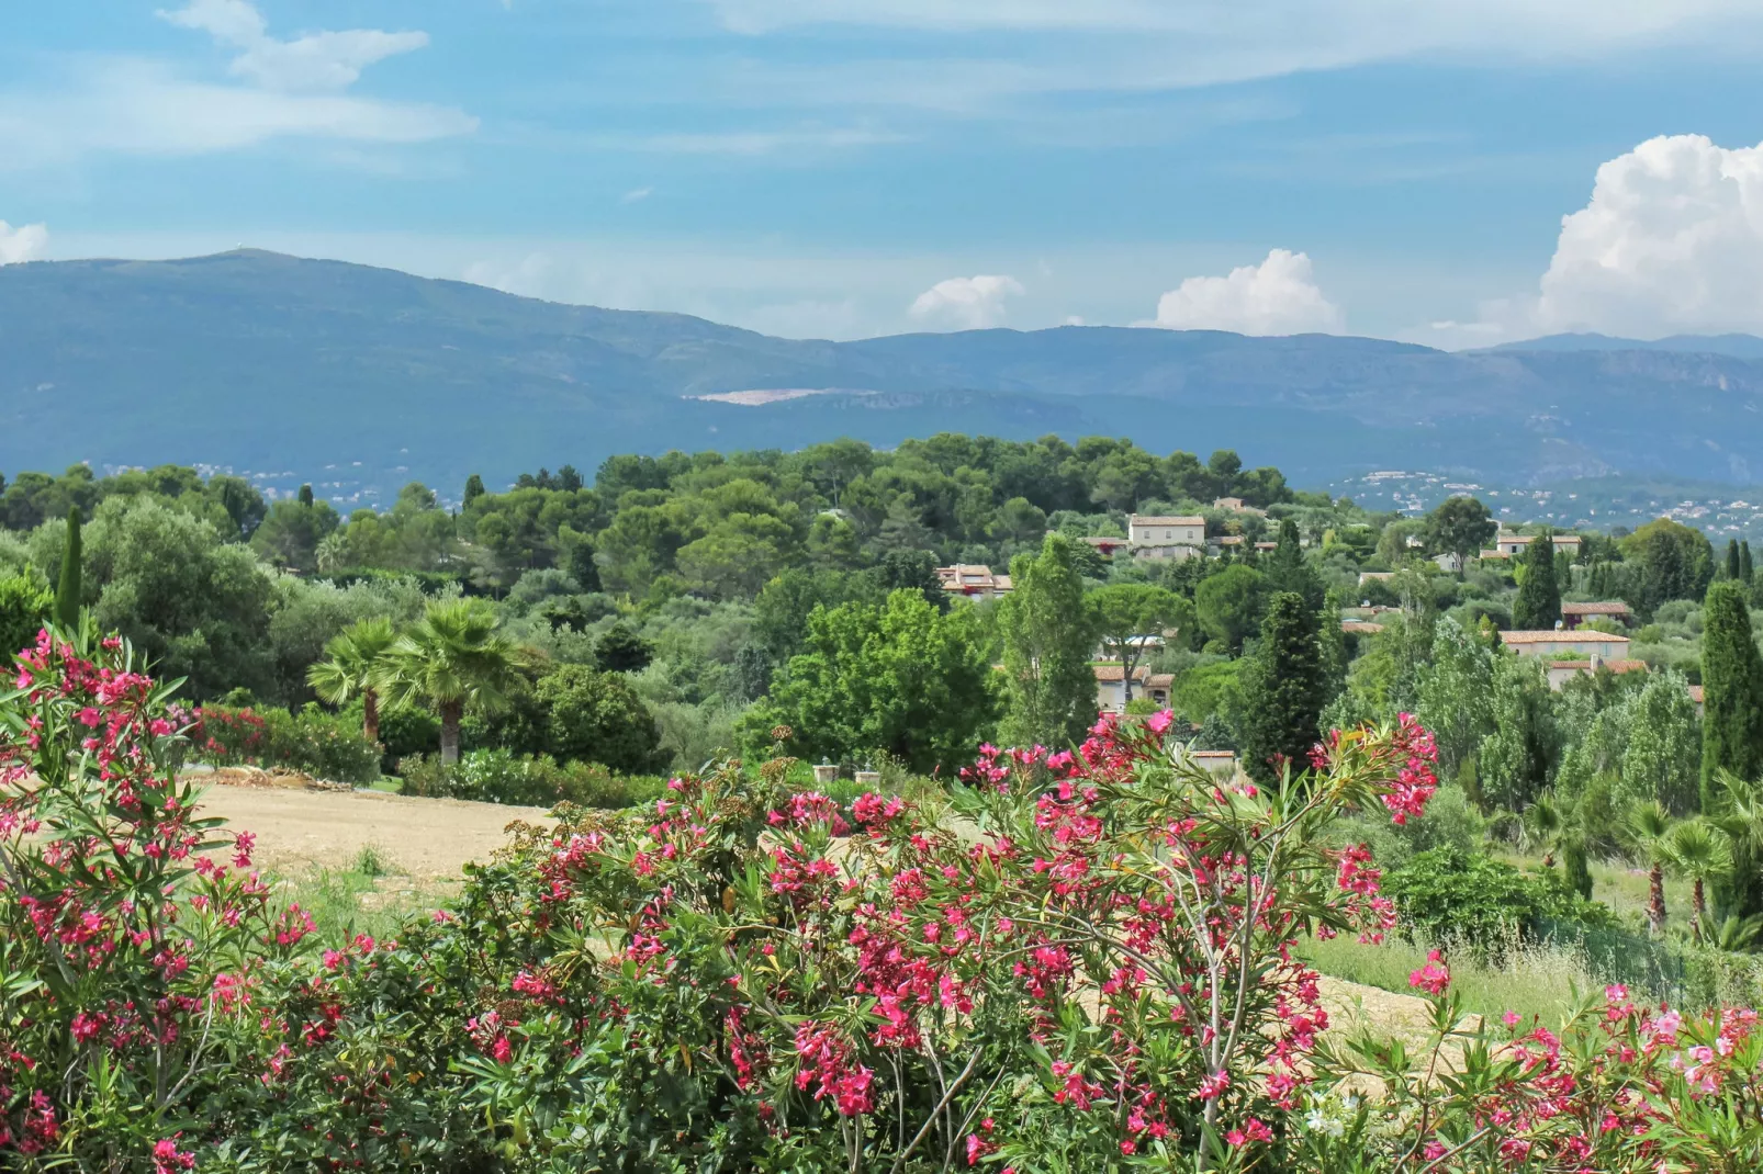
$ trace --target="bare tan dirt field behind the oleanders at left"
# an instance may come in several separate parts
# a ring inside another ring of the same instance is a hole
[[[513,820],[545,821],[543,807],[405,799],[381,791],[210,786],[206,814],[257,834],[257,862],[277,871],[347,867],[374,846],[413,878],[453,878],[502,844]]]

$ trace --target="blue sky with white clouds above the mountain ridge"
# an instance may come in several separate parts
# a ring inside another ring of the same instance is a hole
[[[247,245],[829,338],[1763,331],[1759,49],[1763,0],[21,5],[0,264]]]

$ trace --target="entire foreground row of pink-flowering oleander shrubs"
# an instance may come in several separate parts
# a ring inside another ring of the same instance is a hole
[[[92,1170],[1749,1170],[1756,1015],[1613,987],[1560,1035],[1336,1040],[1305,933],[1395,908],[1345,809],[1423,811],[1432,739],[1224,783],[1167,714],[984,747],[959,820],[792,763],[517,828],[393,941],[317,950],[167,763],[120,642],[0,703],[0,1163]],[[205,855],[229,848],[220,858]]]

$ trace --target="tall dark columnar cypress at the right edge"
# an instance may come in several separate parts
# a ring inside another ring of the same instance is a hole
[[[1719,770],[1763,776],[1763,658],[1738,583],[1714,583],[1701,608],[1701,811],[1717,814]]]

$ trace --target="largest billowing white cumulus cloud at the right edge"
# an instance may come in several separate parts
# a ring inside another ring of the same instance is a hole
[[[1763,146],[1648,139],[1597,169],[1562,219],[1541,330],[1613,335],[1763,330]]]

